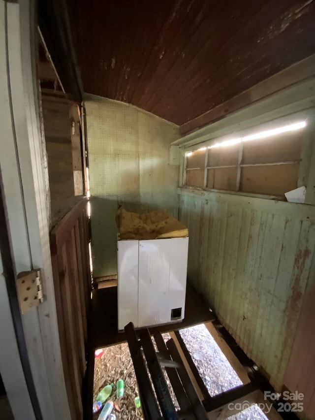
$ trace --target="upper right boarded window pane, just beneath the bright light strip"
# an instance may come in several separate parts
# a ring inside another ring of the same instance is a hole
[[[304,135],[303,131],[294,131],[245,141],[243,142],[242,163],[299,161]]]

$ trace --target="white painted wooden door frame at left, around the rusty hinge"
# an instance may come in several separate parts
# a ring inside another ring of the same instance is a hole
[[[1,9],[3,4],[1,2]],[[5,7],[8,54],[1,62],[4,72],[1,71],[0,84],[4,96],[0,98],[0,166],[13,266],[15,274],[33,268],[40,268],[42,272],[44,303],[22,316],[42,417],[70,419],[57,324],[39,129],[34,61],[37,48],[35,1],[8,2]]]

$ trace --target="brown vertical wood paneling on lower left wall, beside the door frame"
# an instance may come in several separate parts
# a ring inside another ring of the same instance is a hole
[[[87,201],[79,201],[50,233],[57,318],[72,419],[82,419],[87,313],[91,294]]]

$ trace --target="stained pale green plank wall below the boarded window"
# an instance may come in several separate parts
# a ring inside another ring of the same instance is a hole
[[[314,207],[181,190],[180,220],[189,228],[189,282],[281,390],[314,282]]]

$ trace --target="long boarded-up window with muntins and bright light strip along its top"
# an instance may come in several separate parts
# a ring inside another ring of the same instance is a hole
[[[235,138],[199,144],[186,152],[183,185],[284,198],[301,183],[306,126],[301,120],[286,125],[275,121],[268,129],[260,126]]]

